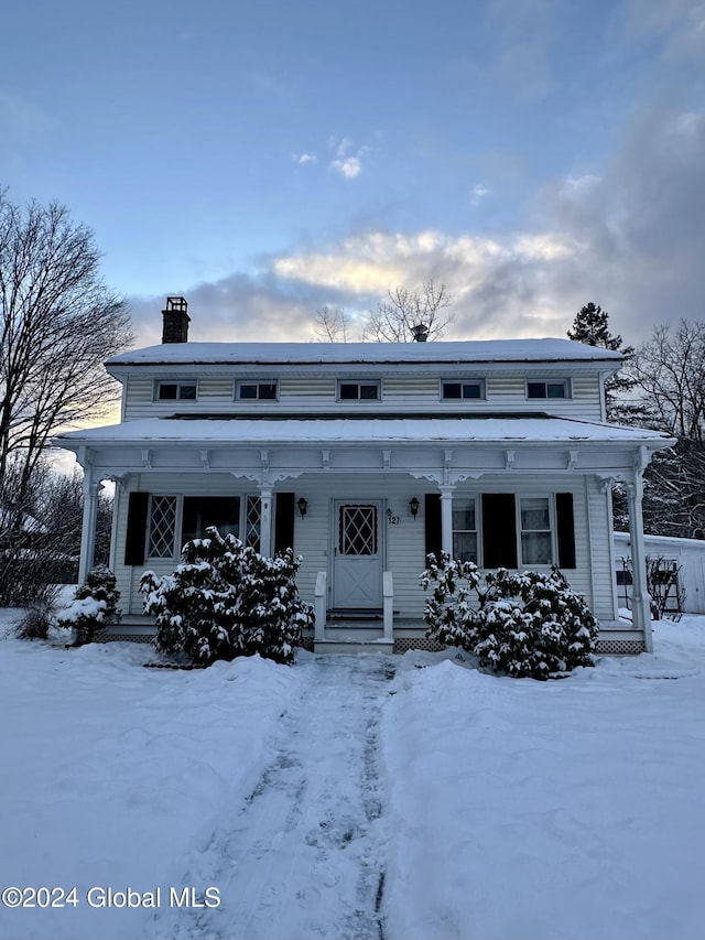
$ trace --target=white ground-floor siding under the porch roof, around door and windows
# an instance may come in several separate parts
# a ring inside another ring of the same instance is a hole
[[[141,489],[150,493],[174,494],[174,476],[172,474],[144,473],[140,475],[138,485]],[[421,620],[423,605],[426,596],[419,584],[419,575],[425,565],[425,520],[424,520],[424,494],[433,493],[433,484],[415,480],[404,474],[377,474],[365,477],[356,474],[302,474],[296,480],[286,480],[279,487],[282,491],[294,491],[296,499],[304,497],[307,500],[307,512],[301,518],[295,512],[294,518],[294,552],[303,557],[302,568],[297,576],[297,583],[302,598],[310,603],[314,601],[314,588],[316,575],[319,571],[328,573],[328,586],[330,585],[333,558],[335,544],[330,534],[330,512],[334,500],[344,498],[346,501],[382,501],[382,549],[384,552],[383,570],[391,571],[394,585],[394,611],[395,619]],[[588,530],[586,490],[589,493],[592,511],[594,515],[592,530]],[[575,569],[565,570],[571,586],[583,594],[588,604],[593,604],[592,574],[596,583],[600,584],[600,591],[595,602],[595,614],[605,619],[612,619],[612,572],[609,559],[609,532],[607,528],[607,504],[605,494],[592,482],[585,478],[576,479],[571,475],[554,475],[541,485],[535,480],[529,487],[525,480],[522,485],[520,479],[508,480],[507,475],[485,475],[480,480],[468,482],[458,486],[454,494],[454,509],[462,507],[464,503],[473,500],[476,506],[475,526],[478,533],[478,559],[481,566],[481,531],[480,520],[480,494],[481,493],[512,493],[517,496],[517,508],[522,497],[544,497],[549,500],[555,498],[555,493],[573,493],[574,523],[575,523]],[[236,479],[227,474],[210,474],[204,478],[203,474],[181,474],[178,476],[178,496],[200,496],[204,493],[226,496],[231,494],[239,496],[245,504],[245,498],[251,495],[251,482],[240,478]],[[409,503],[412,497],[421,501],[417,517],[414,519]],[[254,497],[257,498],[257,496]],[[174,558],[145,559],[143,566],[126,568],[122,563],[124,558],[124,542],[127,530],[128,497],[122,494],[119,500],[118,529],[116,533],[116,558],[115,570],[118,576],[118,590],[122,594],[122,609],[130,614],[142,613],[143,598],[139,594],[139,581],[144,569],[153,570],[158,575],[169,574],[174,570]],[[258,499],[259,503],[259,499]],[[387,510],[391,510],[391,523]],[[181,510],[180,510],[181,511]],[[243,506],[243,511],[246,511]],[[242,518],[242,514],[241,517]],[[247,521],[247,519],[246,519]],[[250,522],[254,521],[250,519]],[[454,522],[460,521],[454,514]],[[467,520],[466,520],[467,521]],[[254,521],[258,526],[259,521]],[[181,526],[181,520],[177,527]],[[454,525],[454,529],[456,526]],[[595,530],[599,532],[596,536]],[[177,531],[180,529],[177,528]],[[471,528],[460,529],[458,532],[471,532]]]

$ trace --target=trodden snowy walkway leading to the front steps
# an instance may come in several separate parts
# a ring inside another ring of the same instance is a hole
[[[379,710],[392,660],[318,656],[295,668],[308,681],[281,716],[274,759],[183,880],[218,887],[220,907],[162,912],[155,936],[383,940]]]

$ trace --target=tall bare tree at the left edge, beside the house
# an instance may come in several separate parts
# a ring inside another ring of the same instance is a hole
[[[113,397],[102,363],[132,342],[99,259],[64,206],[21,207],[0,192],[0,478],[21,455],[20,503],[50,437]]]

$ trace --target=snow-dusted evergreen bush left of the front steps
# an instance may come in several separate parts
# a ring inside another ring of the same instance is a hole
[[[148,571],[140,591],[144,612],[156,616],[156,648],[183,650],[194,663],[259,652],[291,663],[313,608],[299,597],[300,560],[291,549],[264,558],[235,536],[206,529],[187,542],[173,574]]]

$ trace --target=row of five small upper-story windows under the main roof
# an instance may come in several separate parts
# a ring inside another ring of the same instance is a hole
[[[528,379],[525,393],[529,399],[571,398],[570,379]],[[237,382],[236,398],[240,401],[276,401],[279,397],[278,382]],[[440,383],[442,401],[462,401],[486,398],[484,379],[443,380]],[[198,398],[197,381],[180,381],[155,383],[154,398],[158,401],[196,401]],[[381,381],[345,381],[337,383],[338,401],[379,401],[382,398]]]

